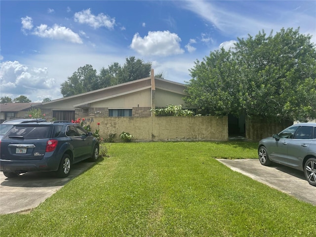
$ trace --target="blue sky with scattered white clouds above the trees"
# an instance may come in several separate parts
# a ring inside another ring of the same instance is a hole
[[[185,83],[211,51],[283,27],[316,43],[316,1],[1,0],[0,97],[62,98],[60,84],[79,67],[99,73],[130,56]]]

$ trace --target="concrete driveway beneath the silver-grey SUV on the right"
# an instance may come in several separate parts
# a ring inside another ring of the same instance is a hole
[[[316,187],[307,182],[303,171],[276,163],[264,166],[258,159],[218,159],[218,161],[254,180],[316,205]]]

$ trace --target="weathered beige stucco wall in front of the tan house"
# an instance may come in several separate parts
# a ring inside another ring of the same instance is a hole
[[[100,136],[106,139],[116,133],[129,132],[132,141],[226,141],[228,140],[227,117],[106,117],[89,118],[92,130],[98,128]]]

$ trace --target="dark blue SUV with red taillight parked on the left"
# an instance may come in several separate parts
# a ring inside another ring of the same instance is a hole
[[[63,178],[72,164],[98,157],[97,138],[69,121],[14,124],[0,141],[0,171],[8,178],[29,171],[55,171]]]

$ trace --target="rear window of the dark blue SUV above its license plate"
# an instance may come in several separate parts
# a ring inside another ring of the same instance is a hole
[[[51,126],[19,125],[14,126],[4,138],[43,139],[50,137],[50,131]]]

